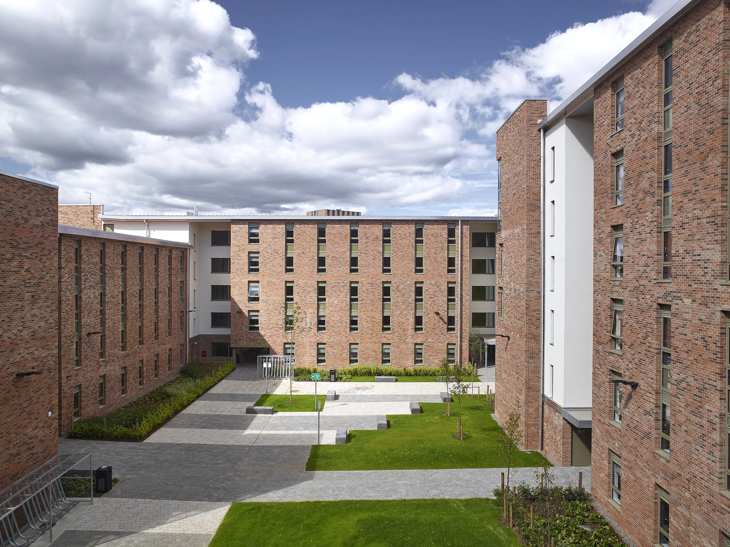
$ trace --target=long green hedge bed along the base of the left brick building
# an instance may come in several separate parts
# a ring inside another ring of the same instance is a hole
[[[186,367],[193,367],[193,365],[186,365]],[[195,378],[199,375],[198,369],[193,367],[185,370],[185,367],[183,367],[180,376],[155,390],[169,394],[169,399],[158,403],[158,397],[147,394],[144,398],[151,399],[151,404],[142,407],[137,406],[137,408],[122,408],[106,416],[78,421],[69,431],[69,437],[143,440],[147,435],[150,435],[155,427],[163,424],[164,421],[172,418],[180,410],[190,405],[205,391],[226,378],[235,368],[234,364],[224,364],[218,370],[212,372],[212,375]],[[185,375],[185,372],[190,375]],[[191,378],[191,376],[193,377]],[[134,405],[134,402],[131,404]],[[139,417],[140,414],[141,418]],[[137,424],[139,424],[137,427],[134,424],[134,416],[137,416]],[[105,419],[108,426],[104,426]]]

